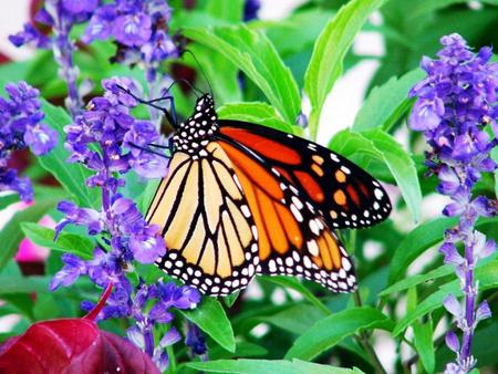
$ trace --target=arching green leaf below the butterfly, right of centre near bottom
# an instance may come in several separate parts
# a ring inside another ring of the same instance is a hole
[[[312,360],[346,336],[372,329],[391,331],[393,326],[394,323],[377,309],[347,309],[318,321],[294,341],[286,359]]]

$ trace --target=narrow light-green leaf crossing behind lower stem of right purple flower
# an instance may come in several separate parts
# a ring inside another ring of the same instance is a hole
[[[475,271],[475,277],[479,281],[479,291],[485,291],[488,289],[495,289],[498,287],[498,261],[495,260]],[[400,335],[406,330],[414,321],[419,318],[430,313],[432,311],[443,307],[443,300],[453,293],[456,297],[461,295],[460,281],[454,280],[449,283],[443,284],[436,292],[430,293],[426,299],[418,303],[418,305],[406,313],[406,315],[401,319],[393,330],[393,336]]]

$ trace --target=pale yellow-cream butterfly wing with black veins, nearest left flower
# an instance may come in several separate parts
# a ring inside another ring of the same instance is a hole
[[[232,164],[216,142],[207,157],[176,152],[146,215],[167,252],[157,266],[210,295],[245,288],[258,266],[257,229]]]

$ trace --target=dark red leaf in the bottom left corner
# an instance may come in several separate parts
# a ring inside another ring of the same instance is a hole
[[[0,373],[159,374],[132,343],[100,331],[89,319],[38,322],[0,347]]]

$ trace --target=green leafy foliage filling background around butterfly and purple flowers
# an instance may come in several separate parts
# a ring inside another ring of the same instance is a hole
[[[194,356],[191,347],[184,344],[169,345],[165,373],[443,371],[453,354],[445,347],[442,331],[457,331],[444,300],[449,293],[458,298],[463,293],[453,267],[444,263],[436,248],[457,221],[440,217],[447,201],[434,198],[437,181],[425,175],[424,138],[406,124],[414,104],[408,91],[424,77],[417,67],[422,56],[434,58],[444,34],[457,32],[476,50],[497,45],[494,30],[498,2],[476,1],[470,7],[458,0],[309,0],[286,19],[249,22],[242,22],[243,1],[198,0],[194,9],[180,0],[168,3],[173,9],[169,34],[178,32],[188,38],[188,50],[196,60],[189,53],[173,53],[160,64],[154,63],[154,72],[160,72],[160,77],[185,77],[205,91],[210,85],[221,118],[258,123],[317,139],[320,116],[326,97],[338,89],[335,83],[362,62],[376,60],[378,69],[354,123],[334,131],[330,139],[318,141],[387,185],[395,209],[378,226],[340,232],[354,254],[360,285],[354,294],[332,294],[293,278],[258,277],[240,294],[204,297],[197,309],[172,310],[176,318],[168,325],[156,326],[156,337],[170,328],[185,335],[186,321],[194,323],[206,339],[209,361],[203,362],[203,355]],[[365,32],[382,38],[382,56],[363,55],[351,48]],[[77,27],[72,31],[74,38],[83,33]],[[72,53],[80,75],[95,83],[92,97],[102,94],[102,79],[126,75],[147,82],[141,64],[110,62],[116,55],[112,40],[97,41]],[[7,340],[39,321],[82,316],[81,302],[96,301],[102,290],[83,277],[53,293],[49,283],[63,266],[62,253],[91,259],[94,246],[105,245],[107,239],[71,227],[54,241],[53,228],[38,224],[43,216],[59,222],[62,216],[56,205],[62,199],[89,209],[98,210],[102,205],[98,191],[85,184],[92,172],[65,162],[70,152],[63,145],[63,127],[73,121],[61,106],[66,90],[64,81],[58,77],[52,52],[38,51],[30,61],[4,64],[0,66],[0,77],[2,83],[24,80],[40,90],[44,98],[43,123],[60,138],[50,153],[32,157],[24,170],[32,180],[33,205],[6,218],[0,230],[0,298],[6,301],[0,305],[0,315],[20,316],[10,331],[2,333],[2,340]],[[177,116],[190,115],[195,92],[178,83],[172,94]],[[311,103],[311,112],[304,113],[308,127],[298,121],[303,117],[304,96]],[[135,107],[133,114],[158,122],[157,113],[149,115],[141,107]],[[165,132],[169,134],[169,128]],[[497,160],[497,155],[495,149],[491,157]],[[49,177],[51,186],[45,185]],[[120,187],[120,194],[144,210],[157,180],[144,181],[136,173],[128,173],[123,179],[126,184]],[[496,186],[498,173],[488,173],[475,188],[496,204]],[[15,196],[0,195],[0,208],[14,209],[15,204]],[[496,217],[481,217],[476,228],[487,238],[498,238]],[[50,248],[44,269],[37,276],[24,273],[25,263],[15,260],[24,237]],[[479,261],[475,270],[479,292],[488,300],[492,316],[476,328],[473,354],[477,367],[488,372],[498,367],[497,274],[496,254]],[[134,287],[139,280],[170,281],[154,266],[144,263],[136,263],[129,277],[134,277]],[[125,336],[131,324],[131,319],[122,318],[101,322],[100,328]],[[385,360],[386,350],[395,351],[394,361]]]

